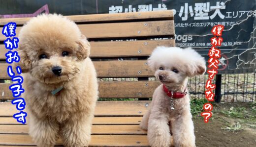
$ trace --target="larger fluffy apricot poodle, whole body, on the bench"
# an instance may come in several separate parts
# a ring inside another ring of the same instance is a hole
[[[32,18],[19,39],[21,60],[15,66],[23,72],[32,140],[39,147],[54,147],[59,138],[65,147],[87,147],[98,85],[86,37],[74,22],[50,14]],[[56,66],[62,68],[58,76]]]

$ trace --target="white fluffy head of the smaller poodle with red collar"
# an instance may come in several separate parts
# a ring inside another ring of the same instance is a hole
[[[183,86],[187,77],[205,73],[204,58],[191,48],[157,47],[148,59],[155,76],[169,87]]]

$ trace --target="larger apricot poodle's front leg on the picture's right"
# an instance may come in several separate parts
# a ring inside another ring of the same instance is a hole
[[[88,147],[91,141],[91,125],[93,115],[71,117],[61,126],[64,147]]]

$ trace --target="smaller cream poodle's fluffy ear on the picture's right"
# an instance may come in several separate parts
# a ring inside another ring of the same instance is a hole
[[[204,57],[191,48],[185,49],[185,51],[186,54],[190,55],[189,63],[186,65],[188,76],[204,74],[206,71]]]

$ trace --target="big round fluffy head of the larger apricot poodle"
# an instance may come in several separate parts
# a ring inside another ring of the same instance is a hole
[[[90,44],[78,26],[57,15],[39,15],[22,27],[16,66],[46,84],[63,83],[79,73]]]

